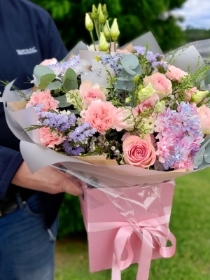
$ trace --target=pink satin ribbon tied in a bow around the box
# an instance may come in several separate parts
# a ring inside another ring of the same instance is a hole
[[[139,233],[142,237],[142,248],[138,261],[139,266],[136,280],[148,280],[149,278],[154,239],[160,244],[159,253],[163,258],[170,258],[175,254],[176,238],[166,226],[168,221],[169,215],[133,224],[130,222],[88,223],[89,232],[119,228],[114,240],[112,280],[120,280],[121,270],[126,269],[132,264],[134,254],[130,244],[130,238],[134,232]],[[171,242],[170,247],[162,245],[163,241],[166,243],[167,240]],[[122,260],[124,250],[127,251],[127,258]]]

